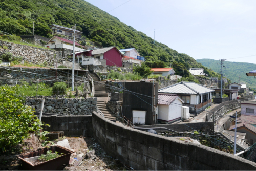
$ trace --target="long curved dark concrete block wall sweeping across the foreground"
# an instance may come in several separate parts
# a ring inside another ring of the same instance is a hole
[[[255,170],[256,163],[204,145],[135,130],[92,114],[101,147],[136,170]]]

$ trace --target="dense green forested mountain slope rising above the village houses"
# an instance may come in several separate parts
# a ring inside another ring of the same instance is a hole
[[[210,76],[216,75],[186,54],[157,41],[154,45],[152,38],[86,1],[0,0],[0,31],[32,35],[33,21],[37,35],[49,37],[51,24],[70,28],[76,24],[84,36],[103,47],[136,48],[152,68],[167,67],[172,63],[177,75],[189,76],[189,68],[204,68]]]

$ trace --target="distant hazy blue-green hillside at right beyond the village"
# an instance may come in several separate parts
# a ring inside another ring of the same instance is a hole
[[[215,72],[220,72],[220,61],[214,59],[198,59],[197,62],[202,63],[205,67],[211,68]],[[219,63],[219,64],[218,64]],[[232,82],[238,82],[239,76],[240,81],[249,84],[251,88],[256,88],[256,79],[254,77],[247,77],[246,72],[250,72],[256,69],[256,64],[245,63],[245,62],[229,62],[223,63],[225,67],[224,76],[231,79]]]

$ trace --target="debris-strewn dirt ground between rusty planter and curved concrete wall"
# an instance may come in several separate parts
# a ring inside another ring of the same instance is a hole
[[[82,164],[80,166],[69,165],[65,167],[64,170],[127,170],[124,164],[118,159],[114,159],[107,155],[102,148],[98,145],[96,140],[90,137],[66,137],[69,141],[69,145],[75,150],[76,154],[88,153],[94,150],[96,158],[88,159],[84,158],[78,163]],[[75,158],[75,157],[71,157]]]

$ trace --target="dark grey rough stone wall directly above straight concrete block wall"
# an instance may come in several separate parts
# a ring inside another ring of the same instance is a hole
[[[48,98],[44,97],[45,113],[59,115],[92,115],[97,111],[97,97],[91,98]],[[41,109],[42,98],[27,98],[26,105],[31,106],[36,112]]]

